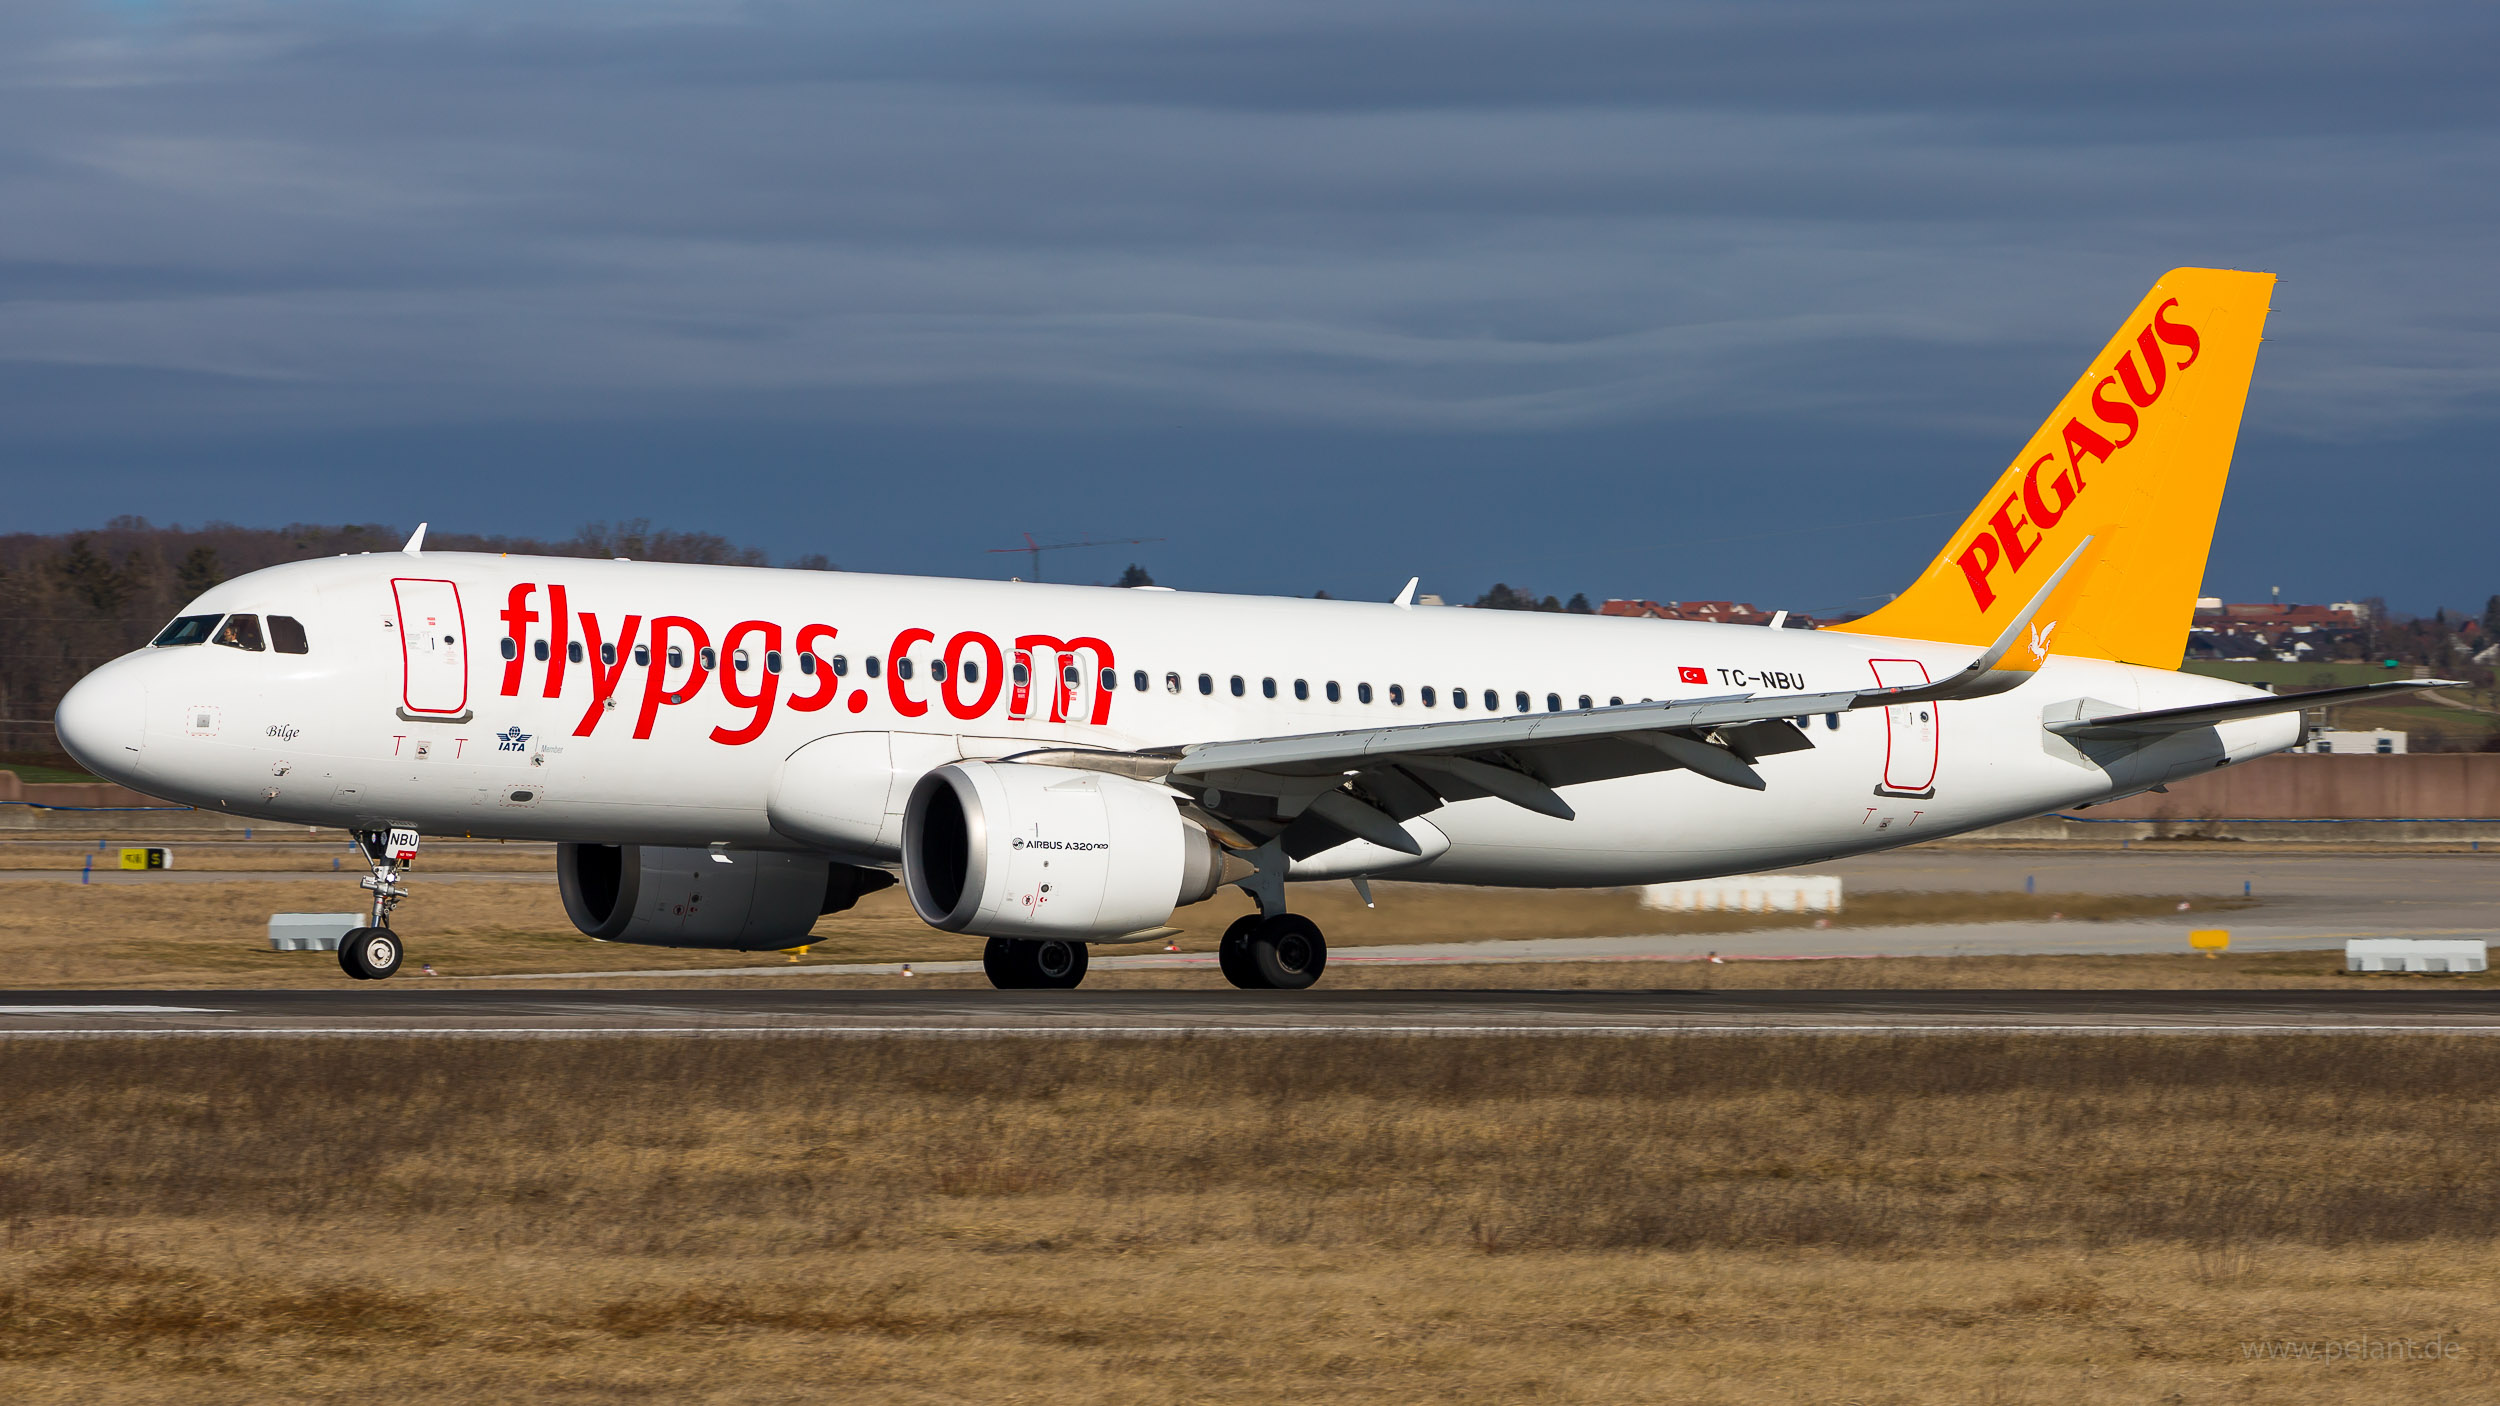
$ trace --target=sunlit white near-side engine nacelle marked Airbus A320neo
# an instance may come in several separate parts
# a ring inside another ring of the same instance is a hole
[[[1225,858],[1170,791],[1100,771],[958,761],[902,811],[902,888],[948,933],[1125,938],[1212,898]]]

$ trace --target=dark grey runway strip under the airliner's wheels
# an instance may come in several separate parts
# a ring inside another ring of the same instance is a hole
[[[0,1038],[2400,1031],[2500,991],[0,991]]]

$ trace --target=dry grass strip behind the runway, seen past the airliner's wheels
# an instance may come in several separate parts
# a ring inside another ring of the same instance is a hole
[[[302,881],[238,883],[92,883],[12,881],[0,886],[0,988],[8,986],[305,986],[338,981],[322,953],[272,953],[270,913],[345,913],[362,908],[352,873]],[[685,971],[738,963],[770,966],[772,953],[720,953],[592,943],[565,921],[552,881],[432,881],[420,871],[400,911],[410,961],[442,973],[528,971]],[[1465,938],[1572,938],[1615,933],[1732,933],[1795,928],[1812,913],[1652,913],[1630,891],[1438,888],[1375,886],[1380,908],[1365,908],[1350,886],[1295,891],[1335,946],[1440,943]],[[2198,908],[2240,908],[2240,901],[2198,898]],[[1838,926],[2028,921],[2062,911],[2068,918],[2170,913],[2170,896],[2108,893],[1870,893],[1850,903]],[[1180,948],[1208,953],[1250,901],[1225,891],[1182,908]],[[818,923],[810,961],[965,961],[980,938],[940,933],[912,916],[898,888],[872,893],[850,913]],[[1110,951],[1110,948],[1108,948]],[[1218,983],[1210,971],[1190,981]]]

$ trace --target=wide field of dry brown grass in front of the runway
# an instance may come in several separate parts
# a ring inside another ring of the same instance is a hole
[[[2500,1388],[2482,1041],[8,1051],[12,1401]]]

